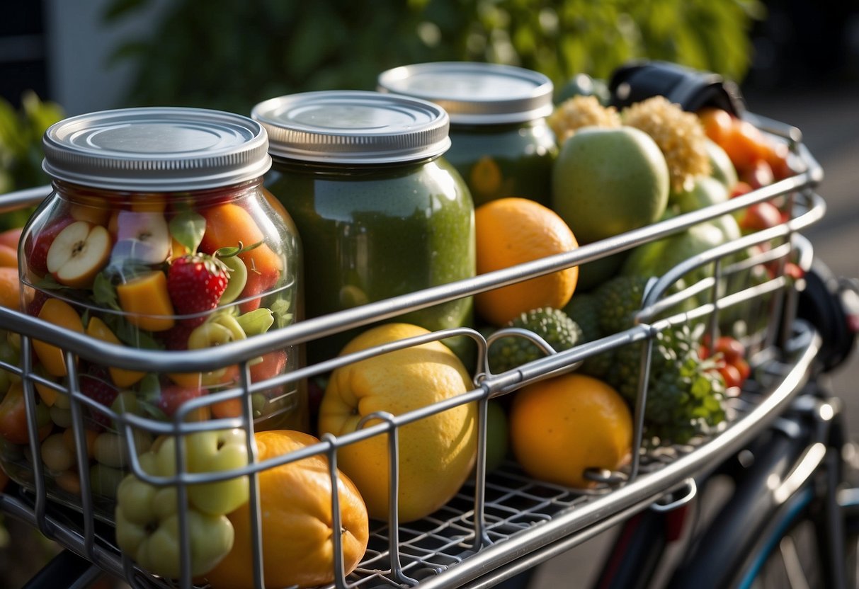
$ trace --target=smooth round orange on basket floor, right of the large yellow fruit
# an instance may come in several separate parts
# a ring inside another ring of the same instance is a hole
[[[611,386],[584,374],[523,387],[515,393],[509,422],[516,460],[547,483],[592,487],[586,469],[616,470],[631,458],[629,407]]]

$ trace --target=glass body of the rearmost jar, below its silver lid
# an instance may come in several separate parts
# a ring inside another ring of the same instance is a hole
[[[466,180],[474,206],[503,197],[549,205],[555,137],[545,118],[518,124],[451,124],[445,158]]]

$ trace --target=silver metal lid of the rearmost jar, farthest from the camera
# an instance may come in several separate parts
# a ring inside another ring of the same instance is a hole
[[[551,80],[533,70],[479,62],[431,62],[383,71],[381,92],[430,100],[451,124],[526,123],[551,114]]]

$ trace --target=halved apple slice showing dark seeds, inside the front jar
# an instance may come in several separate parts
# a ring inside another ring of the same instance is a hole
[[[52,241],[47,270],[60,284],[90,288],[95,275],[107,264],[111,246],[106,228],[86,221],[73,222]]]

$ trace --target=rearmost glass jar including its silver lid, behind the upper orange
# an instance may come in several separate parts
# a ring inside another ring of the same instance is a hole
[[[404,65],[382,72],[378,89],[430,100],[450,116],[445,158],[474,206],[501,197],[549,204],[557,145],[546,117],[551,80],[532,70],[476,62]]]

